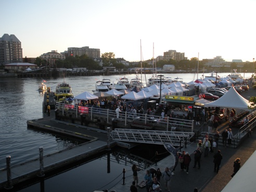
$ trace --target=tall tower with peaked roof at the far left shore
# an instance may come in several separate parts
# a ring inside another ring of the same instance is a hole
[[[15,35],[4,34],[0,38],[0,65],[22,62],[21,42]]]

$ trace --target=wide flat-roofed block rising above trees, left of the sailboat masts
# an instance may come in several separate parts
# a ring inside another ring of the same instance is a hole
[[[92,58],[100,57],[100,49],[89,48],[89,47],[69,47],[68,48],[68,56],[82,56],[87,55]]]

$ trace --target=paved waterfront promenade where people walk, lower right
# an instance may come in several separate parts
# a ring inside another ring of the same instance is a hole
[[[176,167],[175,175],[172,176],[171,180],[171,191],[194,191],[197,187],[200,192],[218,192],[221,191],[226,184],[231,181],[231,174],[233,173],[233,163],[236,158],[241,159],[241,166],[250,158],[252,153],[256,149],[256,137],[252,134],[252,137],[248,137],[242,145],[236,149],[233,147],[219,147],[223,155],[219,173],[215,173],[213,163],[213,153],[210,153],[208,157],[201,158],[201,169],[193,168],[194,166],[194,150],[196,149],[197,143],[193,143],[188,146],[185,151],[191,154],[191,162],[189,166],[189,174],[184,171],[180,171],[180,163]],[[171,168],[174,163],[174,156],[163,159],[157,163],[157,166],[153,165],[152,168],[160,168],[164,171],[166,167]],[[144,180],[146,170],[138,172],[139,182]],[[130,191],[130,186],[133,181],[132,172],[127,172],[125,175],[125,185],[120,184],[114,186],[111,190]],[[164,182],[161,180],[160,184],[163,191],[165,191]],[[146,191],[146,187],[137,187],[138,191]]]

